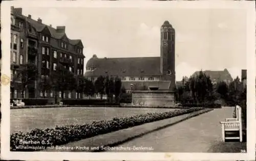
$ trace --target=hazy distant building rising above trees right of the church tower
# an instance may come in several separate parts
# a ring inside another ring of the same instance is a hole
[[[200,71],[196,71],[192,76],[196,76],[199,72]],[[217,84],[218,82],[230,84],[233,81],[233,78],[227,69],[224,69],[223,71],[205,70],[203,72],[210,77],[212,84]]]

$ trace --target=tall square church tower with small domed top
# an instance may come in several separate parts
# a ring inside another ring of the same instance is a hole
[[[176,88],[175,30],[168,21],[164,21],[161,26],[160,70],[162,73],[162,80],[171,82],[170,90]]]

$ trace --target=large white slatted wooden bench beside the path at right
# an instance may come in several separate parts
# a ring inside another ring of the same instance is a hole
[[[225,142],[228,139],[239,139],[243,141],[242,137],[242,110],[239,105],[236,106],[236,118],[226,118],[225,121],[220,122],[222,125],[222,140]],[[228,137],[229,132],[237,133],[236,137]]]

